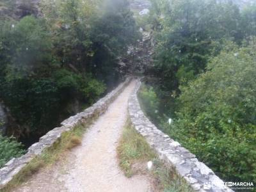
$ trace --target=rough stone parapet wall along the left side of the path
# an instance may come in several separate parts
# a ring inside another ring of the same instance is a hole
[[[115,90],[98,100],[92,107],[85,109],[77,115],[70,116],[70,118],[61,122],[61,127],[56,127],[47,132],[47,134],[40,138],[38,143],[28,148],[28,152],[24,154],[24,156],[8,161],[8,163],[0,169],[0,189],[3,189],[35,156],[40,156],[45,149],[51,147],[54,143],[58,143],[63,133],[71,131],[77,125],[92,122],[93,119],[104,113],[106,109],[108,109],[109,104],[116,99],[130,81],[131,77],[127,77],[124,83],[121,83]]]

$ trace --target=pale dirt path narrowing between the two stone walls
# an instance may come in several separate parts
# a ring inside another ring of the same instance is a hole
[[[134,175],[128,179],[116,159],[116,147],[127,120],[127,102],[135,84],[132,81],[108,111],[90,126],[82,144],[71,150],[65,161],[40,171],[15,192],[150,191],[147,177]]]

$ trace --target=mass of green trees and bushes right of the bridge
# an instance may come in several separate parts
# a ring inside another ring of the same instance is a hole
[[[147,114],[222,179],[256,182],[255,5],[152,0],[148,21],[157,95],[141,102]],[[147,108],[156,98],[159,115]]]

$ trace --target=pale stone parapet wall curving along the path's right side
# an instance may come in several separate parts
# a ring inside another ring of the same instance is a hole
[[[138,80],[136,88],[129,98],[129,116],[136,131],[147,140],[159,158],[166,165],[174,168],[176,173],[184,178],[195,191],[232,191],[208,166],[198,161],[194,154],[181,147],[180,143],[173,141],[148,120],[141,110],[138,100],[137,93],[140,86],[141,81]]]

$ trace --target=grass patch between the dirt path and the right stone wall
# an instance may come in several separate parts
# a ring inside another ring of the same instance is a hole
[[[122,138],[119,142],[118,158],[120,168],[124,171],[126,177],[132,177],[135,164],[147,164],[153,161],[151,171],[140,172],[147,174],[154,180],[154,191],[164,192],[192,192],[186,181],[177,175],[173,168],[166,166],[156,155],[154,150],[149,147],[145,138],[131,126],[131,122],[127,122],[124,127]]]

